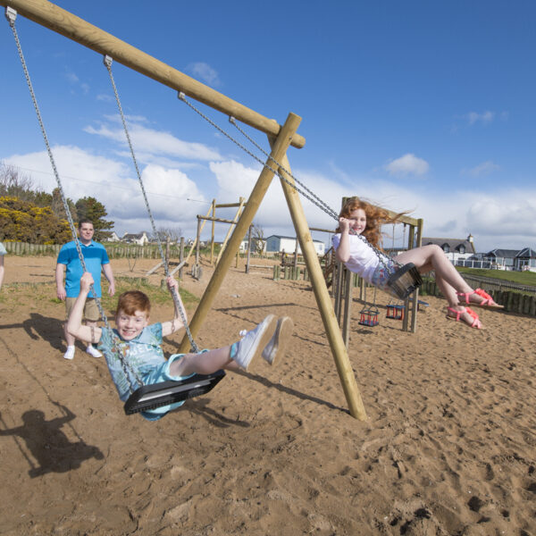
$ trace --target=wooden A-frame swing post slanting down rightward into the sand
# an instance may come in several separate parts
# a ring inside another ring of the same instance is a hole
[[[284,155],[282,160],[277,161],[290,172],[290,164],[287,155]],[[280,172],[286,180],[289,180],[290,184],[294,184],[294,179],[292,179],[288,173],[284,172],[281,168]],[[289,205],[290,215],[299,239],[302,255],[304,255],[306,259],[306,266],[309,276],[311,277],[314,297],[316,298],[316,303],[322,316],[324,329],[330,342],[331,354],[335,361],[335,365],[337,366],[342,389],[347,399],[348,409],[350,415],[364,421],[366,419],[366,412],[364,411],[363,401],[359,389],[357,388],[356,377],[352,370],[348,352],[335,318],[333,306],[331,305],[330,293],[326,287],[326,281],[323,278],[318,255],[316,255],[316,250],[314,249],[313,239],[311,238],[311,233],[307,226],[306,215],[304,214],[304,209],[301,205],[296,188],[292,188],[290,184],[281,179],[281,186],[285,193],[287,204]]]

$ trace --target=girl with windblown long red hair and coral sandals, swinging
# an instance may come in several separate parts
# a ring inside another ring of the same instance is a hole
[[[348,270],[359,273],[365,281],[386,292],[389,292],[387,281],[396,270],[396,264],[389,257],[387,262],[381,262],[369,244],[379,247],[381,225],[396,222],[400,215],[390,217],[386,210],[351,197],[340,211],[339,227],[332,239],[337,259],[346,264]],[[358,235],[362,235],[369,244]],[[478,314],[467,305],[503,308],[482,289],[471,289],[439,246],[428,245],[405,251],[397,256],[397,263],[413,263],[420,273],[435,272],[435,281],[448,302],[449,320],[462,321],[480,330],[482,322]]]

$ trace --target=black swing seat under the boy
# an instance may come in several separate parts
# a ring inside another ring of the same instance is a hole
[[[213,374],[195,374],[181,381],[161,381],[154,385],[142,385],[136,389],[125,402],[125,414],[132,415],[147,409],[167,406],[188,398],[205,395],[214,389],[216,384],[225,376],[224,371]]]

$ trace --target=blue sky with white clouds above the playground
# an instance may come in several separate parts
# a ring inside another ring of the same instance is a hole
[[[335,210],[341,197],[359,195],[413,211],[424,236],[472,233],[478,251],[536,247],[536,4],[55,4],[281,124],[300,115],[306,146],[289,149],[292,171]],[[21,16],[16,26],[67,195],[103,202],[120,235],[149,230],[102,57]],[[51,191],[6,21],[0,50],[0,160]],[[196,214],[214,197],[248,196],[255,160],[172,89],[119,63],[113,74],[157,227],[193,236]],[[226,116],[200,107],[247,144]],[[247,131],[268,150],[264,134]],[[303,204],[311,226],[335,226]],[[265,236],[293,235],[287,214],[274,180],[255,222]],[[219,238],[226,231],[216,227]],[[402,233],[398,226],[396,241]]]

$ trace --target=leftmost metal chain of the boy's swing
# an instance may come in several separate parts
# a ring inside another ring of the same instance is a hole
[[[71,228],[71,234],[72,234],[74,244],[76,246],[77,253],[79,255],[80,264],[82,266],[82,270],[84,272],[87,272],[86,262],[85,262],[85,259],[84,259],[84,255],[82,254],[82,249],[80,247],[80,241],[79,241],[79,239],[77,237],[77,234],[76,234],[76,229],[74,227],[74,222],[72,221],[71,210],[70,210],[69,205],[67,203],[67,198],[65,197],[65,193],[63,192],[62,181],[60,180],[60,176],[59,176],[59,173],[57,171],[55,161],[54,161],[54,155],[52,154],[50,144],[48,143],[48,137],[46,136],[45,125],[43,123],[43,119],[42,119],[41,113],[39,111],[38,100],[36,98],[36,95],[35,95],[31,80],[29,79],[29,71],[28,71],[28,67],[26,65],[26,61],[24,59],[24,54],[22,54],[21,42],[20,42],[19,36],[17,34],[17,29],[15,28],[15,19],[17,17],[17,12],[11,7],[6,7],[6,9],[5,9],[5,17],[6,17],[7,21],[9,22],[9,25],[11,26],[11,28],[13,30],[13,36],[15,38],[15,43],[17,45],[17,50],[19,52],[19,57],[21,58],[21,63],[22,63],[22,69],[24,71],[24,76],[25,76],[26,81],[28,83],[29,93],[31,95],[31,99],[32,99],[34,108],[36,110],[37,116],[38,116],[39,127],[41,129],[41,133],[43,134],[43,139],[45,140],[46,152],[48,153],[48,158],[50,160],[50,163],[52,165],[52,169],[54,171],[54,177],[55,177],[55,180],[56,180],[56,183],[57,183],[57,187],[58,187],[58,189],[60,191],[60,197],[62,197],[63,210],[65,211],[65,214],[67,216],[67,221],[69,222],[69,227]],[[95,292],[95,288],[94,288],[93,284],[91,284],[90,290],[93,293],[93,296],[95,297],[95,303],[96,303],[96,306],[98,307],[99,313],[101,314],[103,322],[105,322],[105,327],[108,330],[112,331],[112,328],[110,327],[110,324],[108,323],[108,319],[106,318],[105,310],[103,309],[103,306],[102,306],[102,304],[100,302],[100,299],[96,296],[96,292]],[[125,374],[125,377],[127,378],[127,381],[129,382],[129,385],[130,385],[130,391],[132,391],[133,386],[130,383],[129,374],[127,372],[127,369],[125,368],[126,365],[125,365],[123,359],[120,359],[120,361],[121,361],[121,366],[122,366],[122,369],[123,369],[123,373]],[[136,378],[136,381],[138,381],[141,385],[143,385],[143,382],[138,377],[138,374],[136,373],[136,371],[134,371],[132,369],[130,369],[130,371],[134,375],[134,377]]]

